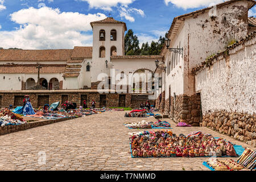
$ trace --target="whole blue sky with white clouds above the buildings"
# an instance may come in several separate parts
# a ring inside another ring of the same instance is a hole
[[[227,0],[225,0],[227,1]],[[175,16],[222,0],[0,0],[0,47],[61,49],[92,46],[90,22],[112,16],[139,43],[157,41]],[[256,15],[256,7],[249,16]]]

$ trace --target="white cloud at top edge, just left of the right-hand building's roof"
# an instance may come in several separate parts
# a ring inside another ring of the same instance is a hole
[[[164,3],[168,6],[169,3],[181,7],[183,9],[196,8],[201,6],[213,6],[217,3],[221,3],[228,0],[164,0]]]

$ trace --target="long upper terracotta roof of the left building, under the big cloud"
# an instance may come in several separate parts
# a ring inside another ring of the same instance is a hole
[[[73,49],[15,50],[1,49],[0,61],[65,61]]]

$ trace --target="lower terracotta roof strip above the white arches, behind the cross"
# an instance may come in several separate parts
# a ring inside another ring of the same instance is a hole
[[[0,64],[0,73],[38,73],[37,64]],[[65,64],[42,64],[40,73],[64,73]]]

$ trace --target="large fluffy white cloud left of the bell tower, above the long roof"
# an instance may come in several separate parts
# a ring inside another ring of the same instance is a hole
[[[59,9],[42,7],[22,9],[10,15],[20,24],[16,30],[0,31],[1,47],[23,49],[73,48],[92,46],[90,22],[106,18],[104,14],[60,12]],[[85,33],[82,33],[85,32]]]

